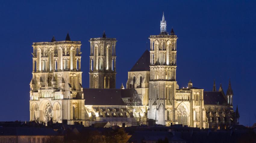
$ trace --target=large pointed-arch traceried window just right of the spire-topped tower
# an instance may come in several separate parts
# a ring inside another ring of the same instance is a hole
[[[186,108],[184,105],[180,105],[178,107],[178,124],[188,125],[189,124],[189,117],[188,112],[186,111]]]

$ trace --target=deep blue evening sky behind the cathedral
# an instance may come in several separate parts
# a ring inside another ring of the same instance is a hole
[[[177,81],[212,90],[220,79],[226,93],[231,78],[240,124],[256,122],[255,1],[1,1],[0,121],[29,120],[32,42],[63,41],[67,32],[81,41],[83,87],[89,87],[89,38],[103,30],[117,38],[117,88],[145,51],[150,35],[160,32],[164,11],[167,31],[178,36]],[[221,77],[221,78],[220,78]]]

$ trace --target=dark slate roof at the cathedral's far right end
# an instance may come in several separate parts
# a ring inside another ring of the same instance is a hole
[[[227,105],[227,101],[219,91],[204,91],[204,105]]]

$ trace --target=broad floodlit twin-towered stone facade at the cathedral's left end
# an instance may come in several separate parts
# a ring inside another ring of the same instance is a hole
[[[68,124],[84,120],[81,72],[81,42],[34,42],[30,82],[30,120]]]

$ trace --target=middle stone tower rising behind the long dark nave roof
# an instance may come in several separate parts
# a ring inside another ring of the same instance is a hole
[[[115,38],[91,38],[90,88],[116,87],[116,42]]]

